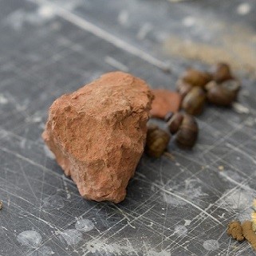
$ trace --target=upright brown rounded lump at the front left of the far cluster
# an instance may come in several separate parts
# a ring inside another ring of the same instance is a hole
[[[203,112],[206,93],[199,86],[193,87],[184,97],[182,108],[190,115],[199,115]]]

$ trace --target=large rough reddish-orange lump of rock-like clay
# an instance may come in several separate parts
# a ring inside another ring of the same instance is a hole
[[[144,151],[152,98],[144,81],[113,72],[53,102],[42,137],[83,197],[124,199]]]

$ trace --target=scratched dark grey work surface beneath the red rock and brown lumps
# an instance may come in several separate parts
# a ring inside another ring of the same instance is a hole
[[[250,219],[256,197],[255,7],[0,1],[0,255],[255,255],[226,234],[230,221]],[[198,53],[175,52],[190,39]],[[214,57],[238,68],[239,104],[207,107],[193,151],[171,144],[172,159],[143,156],[124,202],[82,199],[41,140],[53,100],[116,69],[174,89],[188,65],[207,69]]]

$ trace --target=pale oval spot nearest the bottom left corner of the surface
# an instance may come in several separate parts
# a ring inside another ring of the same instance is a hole
[[[26,230],[17,236],[18,242],[22,244],[22,246],[30,246],[36,248],[41,244],[41,234],[39,234],[35,230]]]

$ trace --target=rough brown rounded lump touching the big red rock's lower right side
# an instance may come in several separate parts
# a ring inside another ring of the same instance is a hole
[[[145,152],[148,156],[160,157],[167,148],[171,136],[160,129],[156,124],[150,124],[148,126],[147,142]]]

